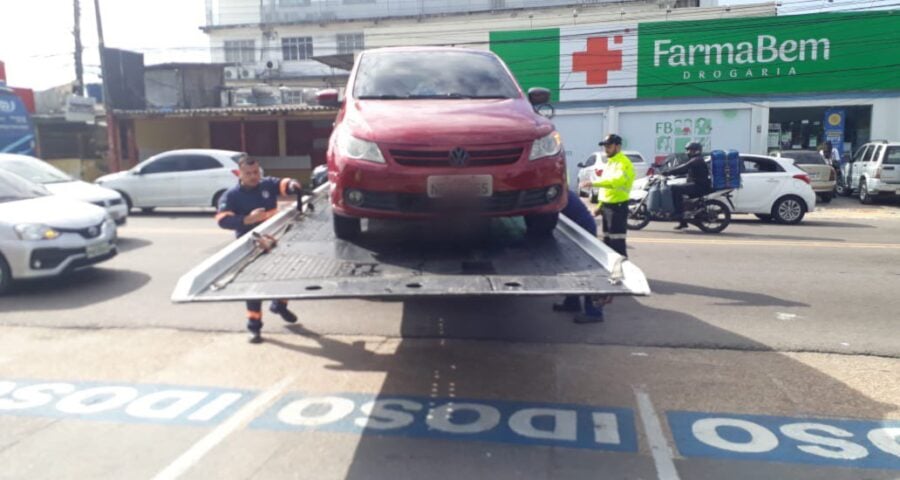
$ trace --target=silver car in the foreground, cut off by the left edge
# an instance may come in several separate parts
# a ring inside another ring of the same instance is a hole
[[[0,170],[0,293],[114,257],[116,223],[96,205],[53,195]]]

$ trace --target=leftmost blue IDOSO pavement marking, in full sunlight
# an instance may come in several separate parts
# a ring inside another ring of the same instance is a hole
[[[176,385],[0,380],[0,416],[208,426],[227,419],[253,395]]]

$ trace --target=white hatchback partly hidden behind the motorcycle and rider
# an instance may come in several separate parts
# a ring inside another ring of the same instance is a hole
[[[809,174],[794,165],[792,159],[742,154],[741,167],[741,188],[731,194],[732,213],[752,213],[766,222],[794,225],[815,211],[816,193]],[[638,198],[646,182],[634,182],[633,198]],[[669,185],[679,182],[683,180],[671,180]]]

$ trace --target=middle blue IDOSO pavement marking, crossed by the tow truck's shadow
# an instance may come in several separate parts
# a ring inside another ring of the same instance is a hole
[[[315,401],[322,398],[330,398],[331,401]],[[363,405],[376,400],[385,403],[383,405],[385,410],[375,412],[371,416],[366,415],[362,410]],[[306,408],[302,410],[297,408],[304,403]],[[452,406],[446,408],[448,404]],[[481,412],[466,407],[466,404],[474,405]],[[531,413],[540,415],[529,416],[529,409],[541,409],[531,410]],[[557,412],[560,417],[548,415],[548,412]],[[435,415],[441,414],[444,414],[444,418],[435,419]],[[595,419],[595,414],[599,415],[600,420]],[[513,427],[512,421],[514,415],[518,420],[516,428]],[[530,427],[524,427],[528,430],[526,434],[523,434],[523,417],[530,418],[527,422]],[[371,423],[366,422],[367,418],[373,419]],[[569,420],[573,422],[570,424]],[[601,424],[600,434],[596,433],[595,424],[598,422]],[[614,430],[603,428],[610,425]],[[374,396],[357,393],[334,395],[297,393],[283,398],[251,423],[250,427],[263,430],[344,432],[617,452],[637,451],[633,410],[555,403]],[[466,429],[470,431],[462,431]]]

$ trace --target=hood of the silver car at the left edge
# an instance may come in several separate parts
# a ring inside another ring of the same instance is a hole
[[[0,221],[10,225],[41,223],[56,228],[85,228],[106,218],[106,210],[90,203],[48,195],[0,203]]]

